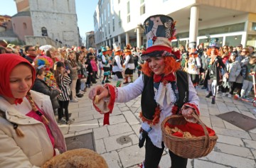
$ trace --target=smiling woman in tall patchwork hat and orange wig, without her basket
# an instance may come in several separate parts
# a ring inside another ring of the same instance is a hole
[[[151,31],[152,27],[157,27],[150,25],[153,23],[164,25],[160,27],[164,33],[160,33],[160,30]],[[171,50],[170,41],[175,33],[174,20],[169,16],[150,16],[144,22],[144,28],[147,39],[150,40],[146,52],[142,54],[142,59],[146,60],[142,67],[144,74],[124,87],[110,84],[95,86],[90,91],[89,98],[93,100],[96,110],[105,114],[103,124],[109,124],[114,102],[127,102],[142,94],[139,147],[142,147],[146,141],[146,154],[142,167],[157,168],[164,152],[161,122],[176,113],[181,113],[188,121],[195,122],[191,113],[199,115],[199,99],[188,74],[178,70],[180,63],[176,60],[181,57],[179,51]],[[156,33],[159,33],[159,36],[156,37]],[[109,98],[109,101],[103,98]],[[172,168],[186,167],[188,159],[179,157],[170,150],[169,154]]]

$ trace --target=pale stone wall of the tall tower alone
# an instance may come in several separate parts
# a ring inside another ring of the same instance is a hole
[[[29,3],[33,35],[41,36],[44,27],[49,38],[60,40],[63,45],[80,45],[75,0],[30,0]]]

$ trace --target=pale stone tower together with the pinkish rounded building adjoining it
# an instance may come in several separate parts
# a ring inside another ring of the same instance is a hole
[[[29,23],[19,23],[23,19],[12,19],[14,32],[18,37],[26,39],[26,35],[38,37],[48,36],[57,42],[58,45],[72,46],[80,45],[80,35],[78,30],[78,18],[75,11],[75,0],[15,0],[18,13],[29,12],[31,25]],[[18,16],[18,13],[16,16]],[[26,26],[24,26],[26,25]],[[31,28],[26,34],[26,28]],[[23,40],[22,39],[22,40]],[[33,38],[32,38],[33,39]],[[31,43],[31,41],[30,41]],[[35,44],[38,43],[35,41]],[[46,45],[46,44],[40,44]]]

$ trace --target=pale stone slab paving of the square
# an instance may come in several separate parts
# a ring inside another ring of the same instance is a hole
[[[97,82],[100,84],[100,82]],[[113,82],[114,84],[114,82]],[[138,118],[140,96],[127,103],[115,103],[110,115],[110,125],[103,126],[103,115],[97,113],[92,101],[87,95],[78,103],[70,103],[71,118],[75,123],[60,125],[65,138],[93,133],[96,152],[102,155],[110,168],[135,168],[144,160],[144,147],[139,148]],[[200,97],[201,120],[208,127],[213,128],[218,135],[218,141],[212,152],[206,157],[188,159],[188,168],[252,168],[256,167],[256,128],[250,131],[242,130],[216,115],[228,111],[237,111],[251,118],[256,116],[256,108],[250,103],[236,101],[228,97],[217,95],[216,103],[210,103],[206,90],[198,89]],[[168,150],[164,151],[159,167],[171,167]]]

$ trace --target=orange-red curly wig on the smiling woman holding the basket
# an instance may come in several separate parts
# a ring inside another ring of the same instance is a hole
[[[170,72],[176,72],[178,69],[181,68],[181,63],[176,62],[174,57],[164,57],[164,74],[169,74]],[[146,74],[146,76],[151,77],[153,72],[149,67],[149,62],[145,62],[142,65],[142,72]]]

